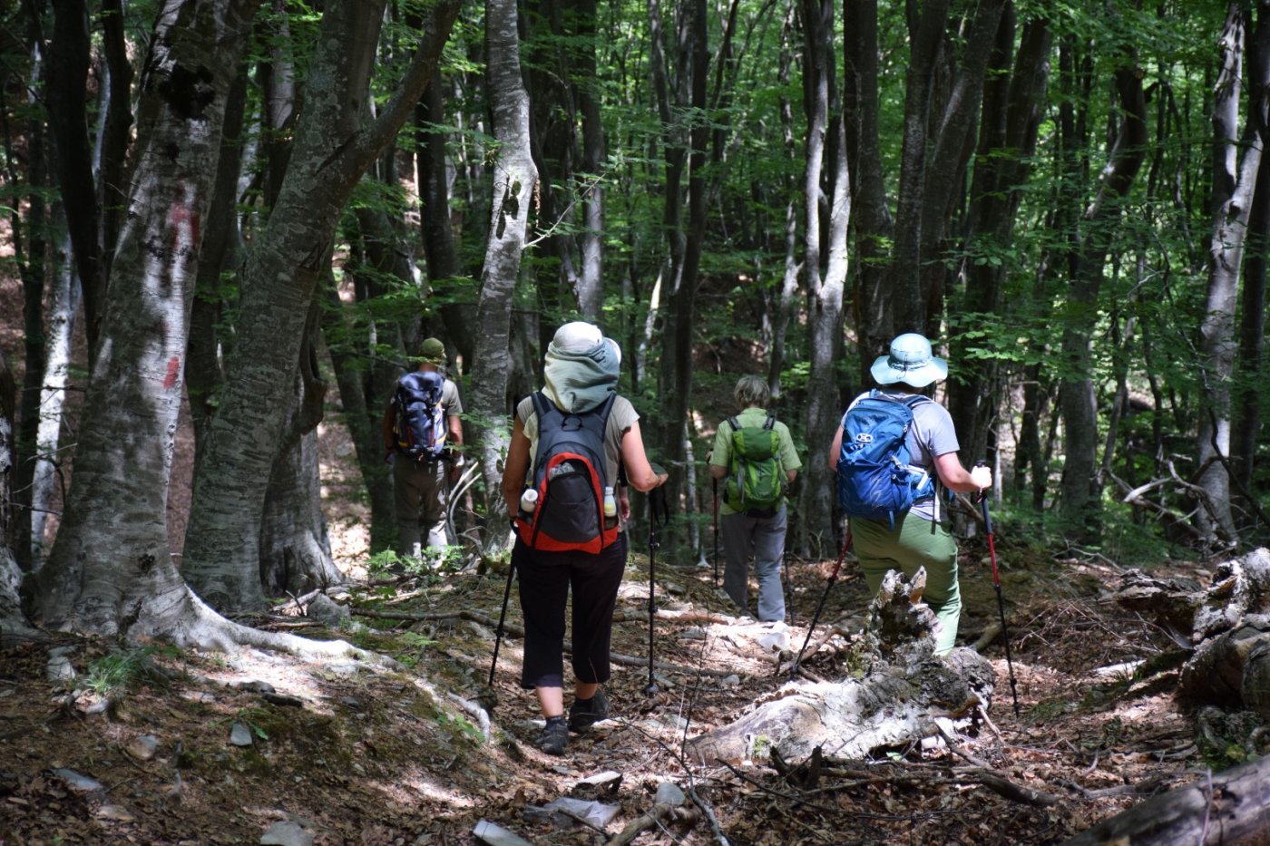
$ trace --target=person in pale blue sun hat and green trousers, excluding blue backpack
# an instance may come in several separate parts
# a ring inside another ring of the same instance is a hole
[[[888,570],[903,570],[912,577],[918,567],[926,568],[926,592],[922,598],[940,624],[935,654],[946,654],[956,643],[961,592],[958,584],[956,541],[947,521],[947,509],[940,506],[935,478],[947,490],[974,493],[992,487],[992,470],[987,466],[973,470],[961,466],[952,418],[928,396],[927,387],[946,379],[949,372],[947,362],[935,357],[930,340],[916,333],[899,335],[890,342],[890,353],[879,356],[870,372],[881,387],[861,394],[847,406],[842,426],[829,447],[829,465],[839,473],[841,498],[843,471],[839,460],[843,457],[843,432],[852,410],[866,398],[871,398],[870,403],[880,399],[897,406],[909,406],[912,423],[904,434],[904,442],[914,478],[921,479],[914,481],[917,499],[900,513],[871,520],[852,516],[851,536],[860,569],[872,593],[878,592]],[[865,434],[862,440],[874,438]],[[847,513],[851,513],[850,508]]]

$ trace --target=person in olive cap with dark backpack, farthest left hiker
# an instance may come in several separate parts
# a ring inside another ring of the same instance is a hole
[[[446,346],[425,339],[418,370],[398,381],[384,412],[384,457],[392,465],[398,553],[404,556],[420,558],[423,546],[444,549],[447,542],[450,483],[464,462],[464,406],[444,366]]]

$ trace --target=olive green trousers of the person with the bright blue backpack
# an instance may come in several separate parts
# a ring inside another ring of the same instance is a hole
[[[900,570],[912,578],[926,568],[923,601],[931,606],[940,630],[935,633],[935,654],[947,653],[956,643],[961,616],[961,591],[956,582],[956,541],[947,523],[936,523],[907,513],[895,520],[851,520],[852,547],[860,559],[869,591],[876,596],[886,570]]]

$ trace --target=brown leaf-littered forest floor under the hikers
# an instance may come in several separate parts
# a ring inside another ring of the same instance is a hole
[[[1107,600],[1120,568],[1071,553],[1036,558],[997,531],[1020,715],[998,638],[984,648],[997,669],[991,720],[961,737],[958,753],[879,749],[869,761],[842,762],[826,748],[814,786],[782,779],[761,751],[733,767],[691,765],[685,735],[733,722],[786,683],[763,645],[780,631],[720,617],[711,568],[658,553],[659,608],[683,619],[657,620],[657,658],[683,669],[658,669],[659,690],[648,695],[645,535],[632,539],[617,606],[625,621],[613,628],[613,652],[638,662],[615,666],[612,718],[573,735],[563,757],[532,746],[541,722],[532,695],[517,687],[518,636],[502,644],[488,742],[479,720],[446,696],[486,692],[504,588],[497,573],[372,584],[362,573],[352,621],[334,633],[287,616],[284,606],[253,621],[343,636],[394,655],[398,671],[60,639],[80,673],[67,683],[46,678],[51,644],[0,653],[0,843],[462,843],[475,842],[483,821],[537,843],[598,843],[652,810],[662,781],[693,789],[733,843],[1050,843],[1194,779],[1208,763],[1173,700],[1175,676],[1139,681],[1114,669],[1170,648]],[[982,539],[963,545],[961,560],[961,640],[973,643],[997,619],[997,600]],[[786,634],[795,652],[832,568],[832,560],[789,563]],[[818,631],[857,624],[866,597],[853,573],[848,558]],[[1153,573],[1205,577],[1165,563]],[[514,596],[508,621],[519,622]],[[845,645],[834,636],[808,668],[845,675]],[[138,672],[146,664],[163,672]],[[131,683],[112,688],[112,669],[116,685]],[[93,708],[102,701],[94,688],[108,708]],[[231,743],[235,724],[250,746]],[[974,775],[983,766],[1054,803],[993,793]],[[610,822],[537,810],[605,771],[621,776],[598,799],[616,809]],[[679,817],[639,842],[716,840],[691,799]]]

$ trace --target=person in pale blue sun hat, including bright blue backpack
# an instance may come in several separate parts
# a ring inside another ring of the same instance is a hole
[[[937,655],[955,645],[961,616],[956,541],[940,487],[960,493],[992,487],[987,466],[973,470],[961,466],[952,418],[928,396],[927,389],[946,379],[947,370],[947,362],[935,357],[931,342],[923,335],[899,335],[890,342],[889,354],[880,356],[870,371],[879,387],[852,400],[829,447],[829,465],[838,473],[839,504],[850,516],[856,558],[869,589],[876,593],[888,570],[903,570],[912,577],[917,568],[925,567],[922,598],[939,621]],[[907,448],[907,474],[900,478],[886,471],[886,480],[870,489],[866,474],[853,471],[852,452],[876,448],[884,441],[881,432],[894,426],[897,417],[900,422],[911,417],[907,431],[893,429],[902,433],[900,446]],[[883,506],[869,512],[870,500],[881,495],[883,487],[892,492],[904,489],[912,504]],[[859,516],[862,512],[872,516]]]

